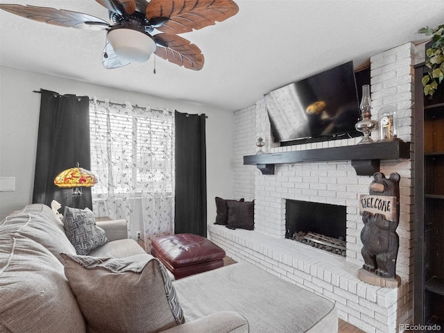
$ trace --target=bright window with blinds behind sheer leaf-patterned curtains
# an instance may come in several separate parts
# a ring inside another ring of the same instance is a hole
[[[99,198],[171,194],[172,112],[114,103],[90,104],[91,171]]]

